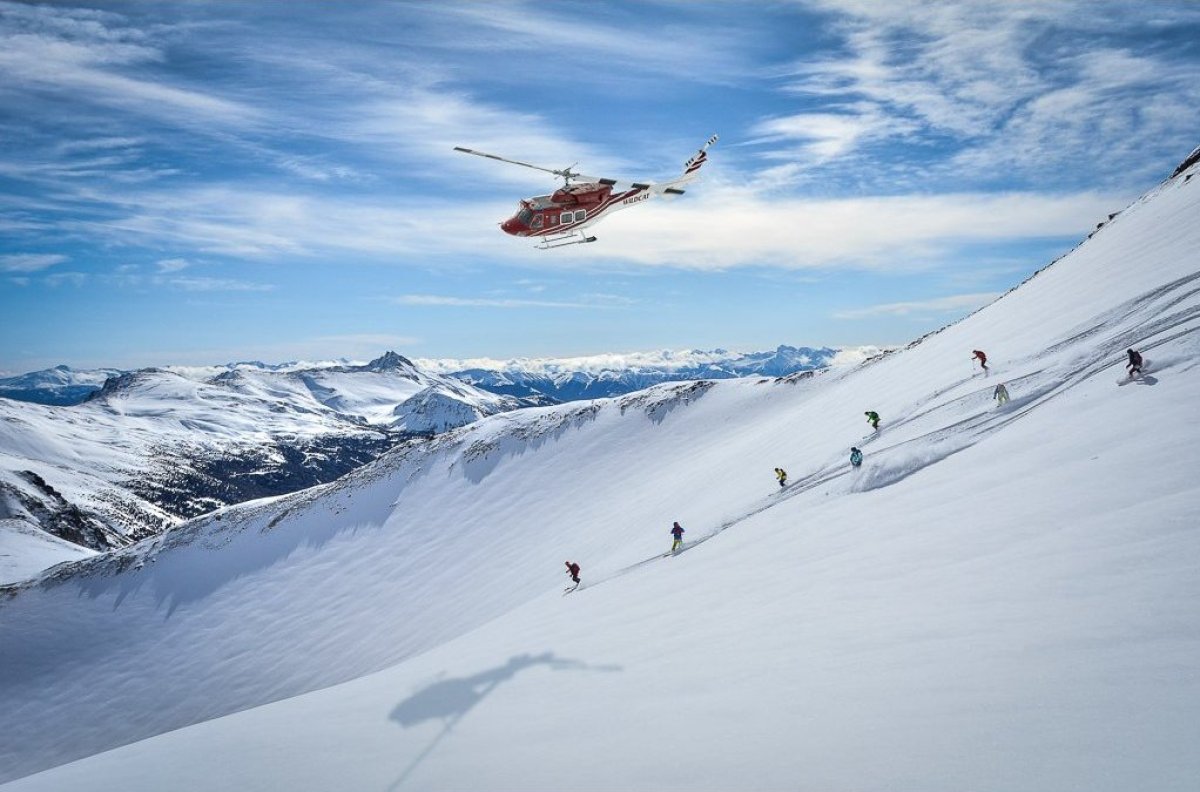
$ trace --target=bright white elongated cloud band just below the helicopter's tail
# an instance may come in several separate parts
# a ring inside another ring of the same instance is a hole
[[[689,191],[690,192],[690,191]],[[649,266],[920,270],[979,244],[1082,236],[1129,202],[1092,192],[770,198],[703,186],[692,203],[622,212],[594,245],[559,260],[618,258]],[[556,251],[557,252],[557,251]]]

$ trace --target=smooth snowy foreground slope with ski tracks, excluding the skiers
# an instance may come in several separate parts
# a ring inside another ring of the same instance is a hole
[[[4,791],[1195,790],[1188,173],[865,365],[492,416],[11,592]]]

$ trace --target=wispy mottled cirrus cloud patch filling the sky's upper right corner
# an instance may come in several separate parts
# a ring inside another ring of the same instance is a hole
[[[881,175],[894,178],[899,162],[917,160],[926,179],[941,172],[1044,184],[1061,180],[1054,169],[1064,164],[1091,169],[1092,180],[1122,179],[1130,161],[1147,162],[1147,144],[1178,139],[1200,101],[1200,74],[1182,40],[1134,50],[1121,43],[1128,38],[1102,37],[1116,28],[1146,40],[1196,29],[1194,5],[1158,13],[1066,0],[804,6],[829,16],[845,50],[796,61],[786,90],[805,109],[764,119],[754,132],[800,145],[763,151],[769,158],[814,167],[852,161],[875,144],[912,143],[893,151]]]

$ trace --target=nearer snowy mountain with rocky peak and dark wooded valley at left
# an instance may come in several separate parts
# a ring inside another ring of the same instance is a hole
[[[0,400],[0,517],[22,522],[25,535],[38,528],[92,550],[119,547],[521,404],[395,353],[365,366],[241,367],[211,378],[121,373],[80,404]]]

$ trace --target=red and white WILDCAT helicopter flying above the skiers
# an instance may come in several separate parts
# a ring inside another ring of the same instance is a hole
[[[475,151],[455,146],[455,151],[473,154],[488,160],[498,160],[534,170],[552,173],[563,180],[563,186],[548,196],[523,198],[517,205],[517,214],[500,223],[500,230],[511,236],[539,236],[540,250],[583,245],[596,241],[595,236],[584,233],[619,209],[636,206],[654,197],[676,198],[684,193],[682,185],[696,179],[701,167],[708,160],[708,148],[716,143],[718,136],[708,140],[683,166],[683,173],[670,181],[658,184],[632,182],[628,190],[616,190],[616,179],[598,179],[584,176],[568,168],[544,168],[541,166],[498,157],[494,154]],[[577,184],[571,184],[572,181]]]

